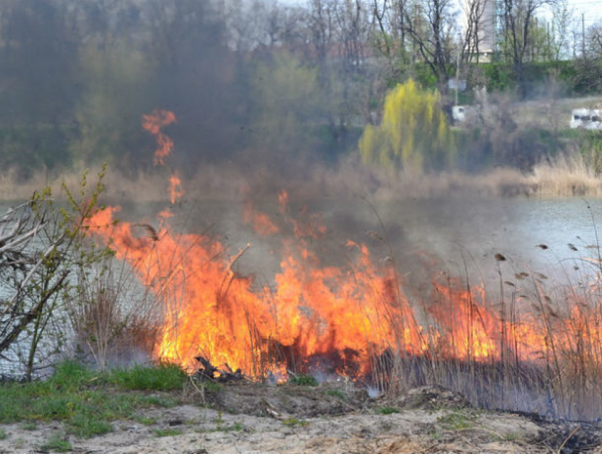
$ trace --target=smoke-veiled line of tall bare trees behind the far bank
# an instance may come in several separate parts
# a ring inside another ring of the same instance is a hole
[[[334,161],[408,79],[443,98],[455,76],[468,93],[524,97],[550,77],[567,93],[602,88],[601,25],[577,33],[562,0],[497,1],[492,16],[487,1],[2,0],[0,159],[23,177],[82,162],[146,169],[140,118],[164,108],[178,118],[174,165],[191,172]]]

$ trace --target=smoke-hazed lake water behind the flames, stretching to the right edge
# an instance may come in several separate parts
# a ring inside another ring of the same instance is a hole
[[[303,212],[305,201],[290,193],[291,214]],[[256,208],[268,213],[276,223],[282,221],[277,195],[262,200]],[[343,244],[347,239],[367,244],[374,256],[394,254],[399,268],[405,272],[416,264],[416,258],[431,254],[452,274],[463,274],[463,260],[479,279],[494,283],[495,254],[504,254],[505,266],[515,271],[525,268],[554,276],[572,269],[572,259],[597,256],[592,249],[596,227],[602,233],[602,200],[579,198],[449,198],[431,200],[396,200],[378,202],[371,207],[365,200],[336,200],[325,197],[307,203],[307,211],[321,215],[328,233],[319,249],[326,264],[346,263]],[[588,208],[588,207],[591,207]],[[124,207],[120,216],[125,220],[151,222],[152,213],[161,206],[132,205]],[[203,200],[174,207],[174,222],[183,231],[217,234],[232,254],[251,242],[251,249],[237,261],[237,271],[252,273],[262,280],[280,268],[280,256],[274,249],[280,237],[257,237],[242,222],[239,203]],[[382,234],[384,225],[392,251],[366,232]],[[540,244],[547,249],[538,247]],[[572,245],[572,246],[569,246]],[[316,244],[314,244],[316,246]],[[575,251],[574,249],[577,249]],[[560,269],[562,266],[562,269]]]

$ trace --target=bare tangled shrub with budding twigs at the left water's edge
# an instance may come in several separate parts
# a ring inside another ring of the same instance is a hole
[[[76,195],[63,185],[67,205],[56,203],[46,187],[0,217],[0,353],[12,350],[26,378],[40,362],[48,365],[67,341],[61,325],[74,266],[96,263],[105,254],[84,245],[86,222],[103,191],[103,171],[92,188],[84,173]]]

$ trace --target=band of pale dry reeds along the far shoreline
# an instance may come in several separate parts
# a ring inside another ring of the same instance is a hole
[[[519,171],[511,167],[478,174],[461,171],[441,171],[423,174],[416,171],[395,171],[365,168],[357,157],[343,160],[336,169],[325,166],[307,166],[296,176],[274,176],[267,168],[258,169],[251,175],[236,166],[205,166],[195,176],[183,178],[183,186],[189,188],[187,200],[236,200],[241,194],[278,193],[282,188],[294,188],[307,197],[324,194],[348,198],[363,195],[382,199],[440,198],[449,196],[479,195],[483,197],[599,197],[602,181],[594,169],[594,154],[562,154],[535,164],[531,171]],[[58,192],[62,183],[76,187],[78,174],[39,172],[27,181],[8,172],[0,178],[1,200],[25,200],[40,187],[50,186]],[[160,171],[139,172],[136,176],[124,176],[110,170],[105,179],[104,198],[112,202],[140,203],[166,200],[165,176]],[[232,182],[235,182],[232,184]]]

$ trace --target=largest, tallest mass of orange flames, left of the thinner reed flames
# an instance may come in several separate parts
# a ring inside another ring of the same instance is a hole
[[[317,257],[290,250],[276,288],[257,289],[232,270],[242,253],[229,258],[214,239],[168,228],[158,232],[158,241],[134,237],[132,225],[113,222],[117,211],[98,212],[90,227],[166,301],[157,358],[193,368],[195,356],[203,354],[212,363],[261,375],[285,360],[282,351],[299,361],[355,351],[360,371],[368,373],[370,348],[382,352],[395,344],[386,317],[402,314],[392,300],[392,276],[370,267],[364,246],[355,271],[307,266]],[[407,340],[413,340],[410,331]]]

